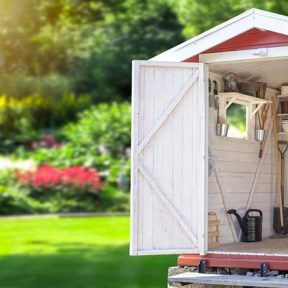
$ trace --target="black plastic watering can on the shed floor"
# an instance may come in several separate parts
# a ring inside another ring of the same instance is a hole
[[[260,216],[249,216],[249,212],[259,212]],[[249,209],[242,217],[236,213],[235,209],[227,211],[234,214],[242,230],[242,242],[259,242],[262,240],[262,211],[259,209]]]

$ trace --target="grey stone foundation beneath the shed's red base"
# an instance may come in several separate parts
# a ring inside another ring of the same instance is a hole
[[[168,269],[168,277],[179,275],[185,272],[198,272],[198,268],[194,266],[181,266],[170,267]],[[243,268],[217,268],[217,267],[206,267],[207,274],[225,274],[225,275],[242,275],[251,277],[260,277],[260,270],[255,269],[243,269]],[[267,270],[267,277],[276,278],[288,278],[288,271],[282,270]],[[189,284],[182,286],[178,282],[168,282],[168,288],[239,288],[234,285],[214,285],[214,284]],[[262,287],[259,287],[262,288]]]

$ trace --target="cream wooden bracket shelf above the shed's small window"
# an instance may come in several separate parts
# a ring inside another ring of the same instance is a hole
[[[226,106],[223,108],[223,111],[225,111],[235,100],[242,100],[250,103],[250,119],[255,115],[255,113],[263,106],[264,103],[272,103],[270,100],[261,99],[253,96],[248,96],[236,92],[228,92],[228,93],[219,93],[219,96],[223,98],[231,98],[231,100],[226,104]],[[253,111],[253,104],[259,104],[258,107]],[[252,112],[253,111],[253,112]]]

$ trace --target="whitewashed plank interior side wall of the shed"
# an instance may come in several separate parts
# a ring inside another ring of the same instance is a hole
[[[219,86],[218,92],[223,92],[223,76],[213,72],[209,72],[209,77],[211,79],[211,82],[213,82],[213,80],[217,81]],[[212,84],[212,92],[213,87],[214,85]],[[274,97],[276,102],[276,96],[277,93],[275,90],[267,88],[266,97]],[[220,103],[221,102],[222,98],[220,97]],[[224,103],[221,103],[220,107],[222,107],[223,104]],[[219,115],[223,116],[223,114],[221,114],[221,108],[219,111]],[[265,123],[265,130],[268,130],[271,117],[272,109],[270,105],[268,119]],[[219,177],[223,184],[223,192],[225,193],[228,209],[236,209],[237,213],[239,213],[242,217],[245,212],[256,169],[260,160],[259,150],[261,142],[255,141],[255,117],[253,117],[252,120],[249,119],[248,140],[217,136],[216,118],[217,111],[214,109],[213,106],[209,108],[209,146],[211,148],[211,152],[218,157],[216,166],[219,170]],[[278,127],[279,121],[276,122]],[[258,119],[257,126],[257,129],[259,129]],[[286,140],[286,137],[285,139],[283,138],[283,141]],[[264,162],[258,176],[258,183],[256,185],[255,193],[251,203],[251,209],[260,209],[263,212],[263,238],[268,237],[269,235],[272,235],[274,233],[273,207],[279,207],[273,130],[268,144],[269,146],[267,147],[266,155],[264,156]],[[288,164],[288,154],[286,157],[287,160],[285,161],[285,163]],[[287,168],[288,165],[285,165],[286,179],[288,179]],[[287,193],[285,193],[285,204],[286,206],[288,204]],[[217,213],[217,219],[220,219],[220,243],[225,244],[234,242],[228,222],[228,217],[224,208],[223,200],[214,172],[209,178],[208,183],[208,212]],[[232,219],[235,223],[236,232],[238,234],[240,228],[236,217],[232,215]]]

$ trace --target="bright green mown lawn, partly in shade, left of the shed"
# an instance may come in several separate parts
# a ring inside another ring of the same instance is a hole
[[[178,255],[129,256],[129,217],[0,220],[0,288],[162,288]]]

